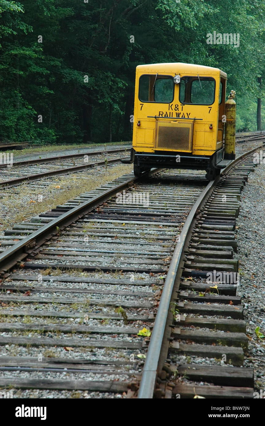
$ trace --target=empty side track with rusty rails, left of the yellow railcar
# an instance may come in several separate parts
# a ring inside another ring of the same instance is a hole
[[[48,158],[34,158],[32,160],[15,161],[12,167],[8,163],[4,163],[0,165],[0,187],[9,188],[30,181],[80,172],[89,167],[119,163],[121,156],[117,157],[117,154],[124,154],[126,151],[126,148],[120,148],[56,155]],[[89,157],[92,158],[89,159]],[[10,179],[11,176],[12,179]],[[9,179],[6,179],[7,177]]]

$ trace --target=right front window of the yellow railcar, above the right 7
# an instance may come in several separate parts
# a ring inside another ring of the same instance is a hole
[[[181,104],[212,105],[215,80],[211,77],[182,77],[179,89]]]

